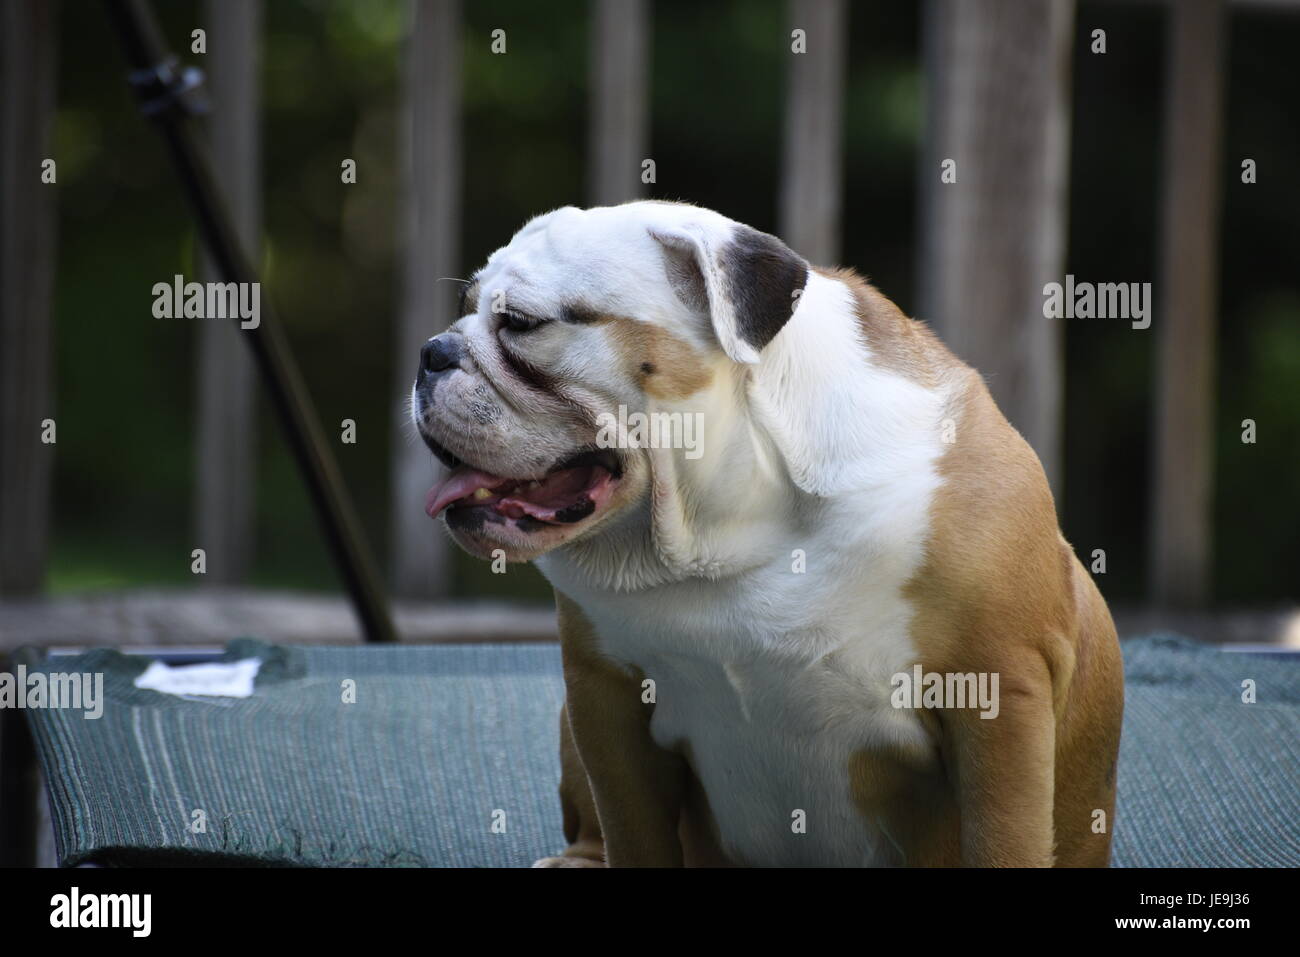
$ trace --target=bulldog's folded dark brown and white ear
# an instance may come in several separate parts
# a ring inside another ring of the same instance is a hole
[[[668,281],[686,306],[707,312],[734,361],[758,354],[785,325],[809,281],[809,264],[775,235],[736,224],[725,233],[651,228]]]

